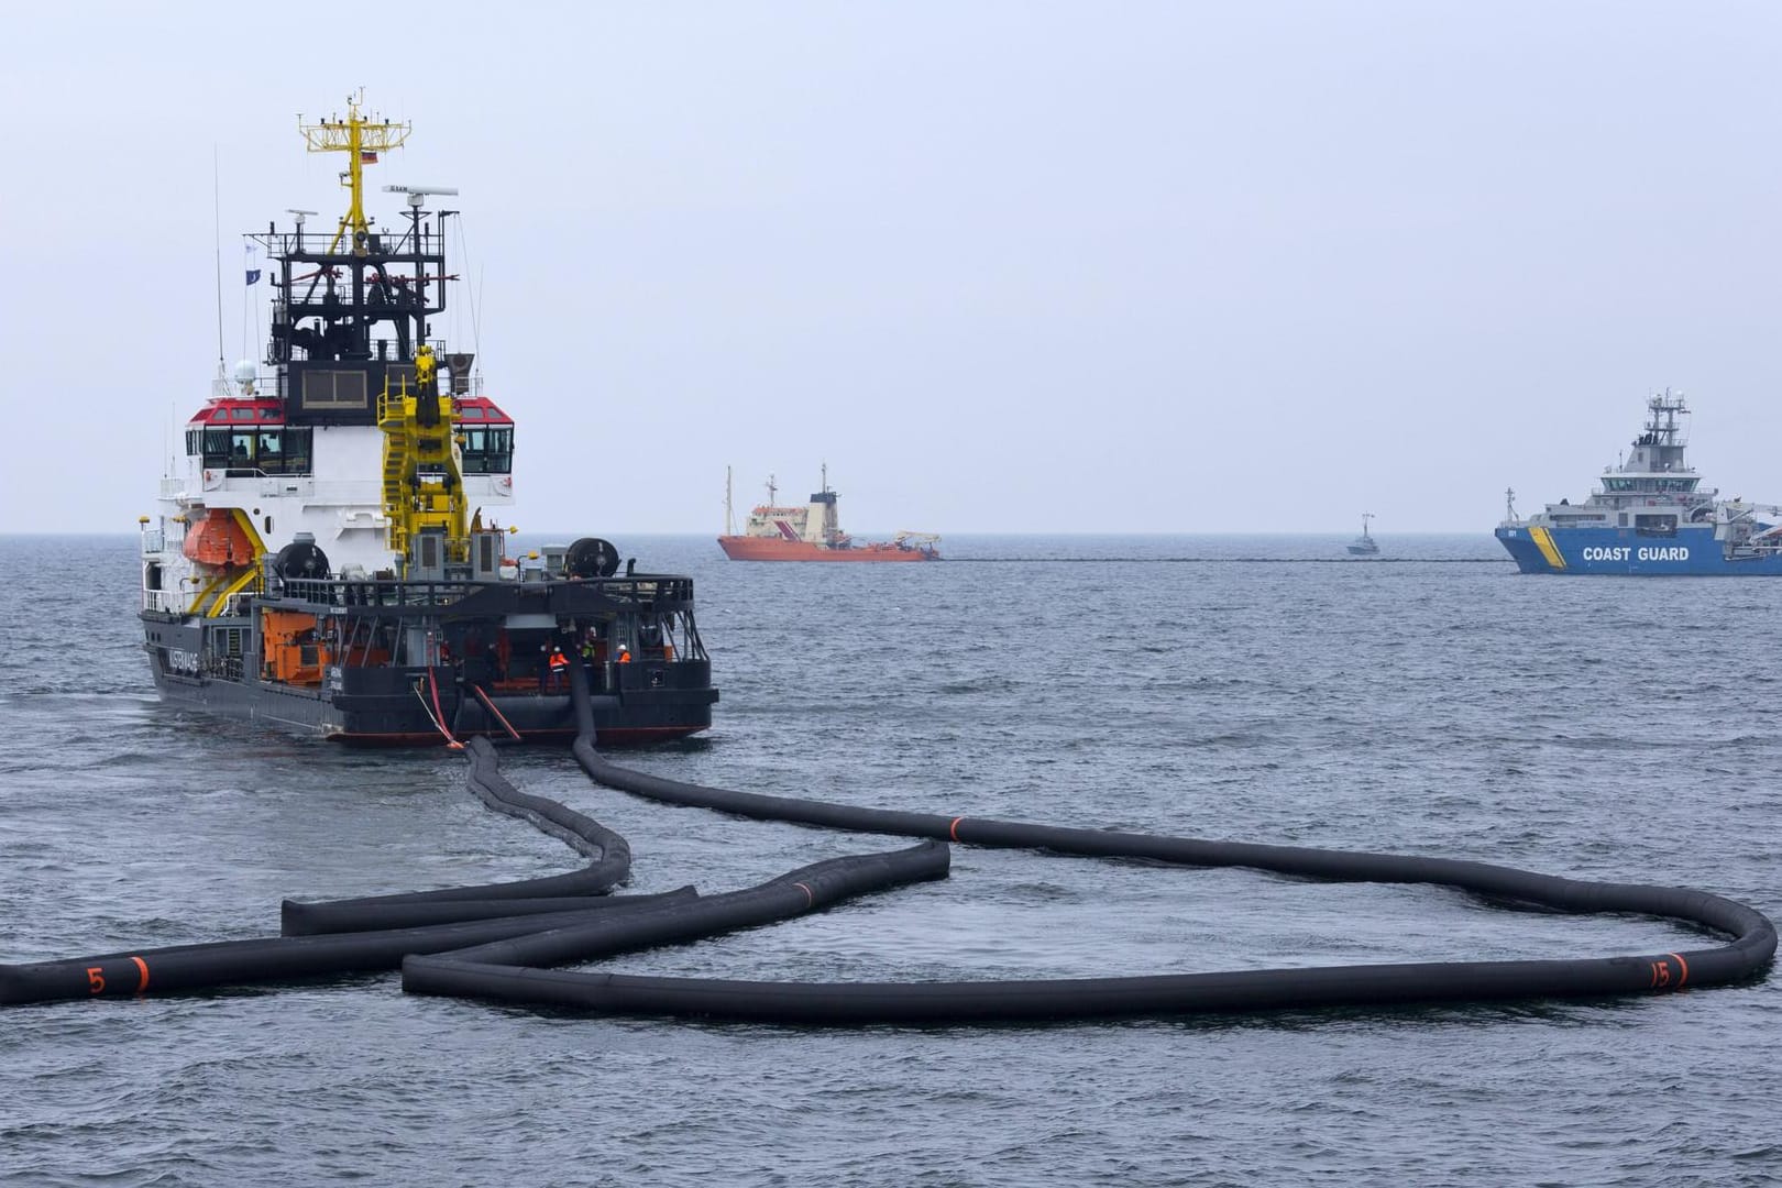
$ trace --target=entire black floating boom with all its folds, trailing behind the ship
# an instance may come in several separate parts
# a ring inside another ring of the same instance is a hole
[[[625,839],[565,805],[519,793],[497,771],[494,745],[474,739],[465,748],[470,787],[492,809],[524,818],[568,841],[592,858],[588,867],[515,883],[335,903],[287,901],[282,937],[0,965],[0,1003],[125,997],[401,965],[405,990],[572,1010],[839,1026],[989,1024],[1657,994],[1746,981],[1761,976],[1775,956],[1777,933],[1768,917],[1743,903],[1684,887],[1598,883],[1454,858],[857,809],[643,775],[611,764],[593,750],[593,711],[581,666],[570,668],[570,689],[581,730],[576,759],[601,784],[736,816],[902,834],[925,841],[889,853],[816,862],[757,887],[725,894],[699,896],[691,887],[683,887],[661,896],[604,896],[629,876],[631,848]],[[1679,919],[1727,933],[1732,940],[1718,948],[1638,956],[1411,962],[1032,981],[788,983],[545,969],[752,928],[852,896],[944,878],[950,853],[946,842],[1181,866],[1244,866],[1329,882],[1433,883],[1484,896],[1492,905],[1525,903],[1565,912],[1632,912]]]

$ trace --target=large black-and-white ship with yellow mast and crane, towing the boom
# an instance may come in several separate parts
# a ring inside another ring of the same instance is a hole
[[[349,207],[331,232],[257,233],[273,308],[266,372],[242,362],[187,422],[185,460],[143,517],[143,645],[160,695],[346,743],[576,734],[568,664],[595,691],[601,743],[711,725],[693,581],[618,574],[588,536],[506,557],[513,419],[472,353],[431,337],[446,308],[453,210],[406,194],[364,208],[364,167],[410,125],[301,125],[342,153]],[[405,226],[406,223],[406,226]],[[248,281],[258,278],[249,273]]]

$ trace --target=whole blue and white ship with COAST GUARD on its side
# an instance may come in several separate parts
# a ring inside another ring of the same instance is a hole
[[[1524,574],[1782,574],[1782,508],[1716,499],[1684,461],[1680,392],[1647,401],[1632,451],[1582,502],[1518,518],[1506,493],[1497,540]]]

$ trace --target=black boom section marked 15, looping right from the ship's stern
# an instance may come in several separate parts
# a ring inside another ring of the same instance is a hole
[[[592,745],[593,720],[586,689],[574,679],[570,689],[579,723],[574,753],[583,769],[601,784],[666,803],[973,846],[1149,858],[1183,866],[1244,866],[1329,882],[1436,883],[1486,896],[1488,901],[1522,901],[1566,912],[1670,917],[1704,924],[1734,939],[1713,949],[1643,956],[1331,965],[1025,983],[813,985],[538,971],[520,976],[510,971],[499,980],[490,974],[490,983],[481,990],[486,997],[602,1012],[800,1024],[991,1022],[1654,994],[1745,981],[1764,972],[1775,956],[1777,932],[1766,915],[1743,903],[1686,887],[1598,883],[1454,858],[1215,842],[857,809],[668,780],[620,768],[601,757]]]

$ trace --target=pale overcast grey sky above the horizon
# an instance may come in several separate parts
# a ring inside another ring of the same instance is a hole
[[[716,533],[725,465],[747,508],[827,461],[857,533],[1363,509],[1486,533],[1506,486],[1581,497],[1666,385],[1707,479],[1782,502],[1782,5],[69,4],[4,27],[14,529],[153,509],[216,369],[212,153],[233,363],[241,232],[339,216],[340,162],[296,114],[358,85],[415,125],[371,183],[462,191],[453,267],[519,420],[522,529]]]

